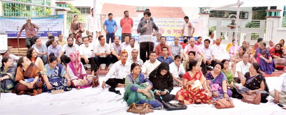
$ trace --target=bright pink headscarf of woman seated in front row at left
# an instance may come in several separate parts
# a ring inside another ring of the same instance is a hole
[[[76,71],[77,76],[80,76],[81,74],[81,62],[78,60],[79,53],[78,52],[71,52],[69,54],[69,58],[71,59],[72,65],[74,70]]]

